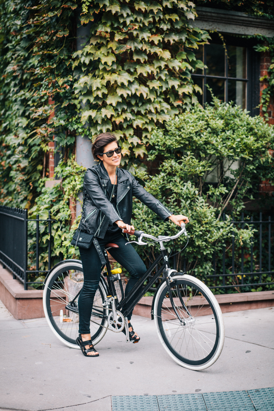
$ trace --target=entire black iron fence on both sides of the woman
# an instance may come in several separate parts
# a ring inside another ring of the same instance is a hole
[[[223,218],[225,219],[225,214]],[[32,270],[28,269],[28,222],[30,221],[32,225],[36,222],[36,250],[32,252],[32,263],[34,254],[35,265],[31,265]],[[51,268],[51,225],[53,221],[56,220],[51,218],[50,211],[46,219],[40,219],[39,215],[36,216],[36,219],[28,219],[27,210],[0,207],[0,261],[13,273],[13,278],[19,279],[24,284],[25,290],[27,290],[28,285],[41,286],[41,282],[29,280],[33,278],[33,275],[46,275]],[[47,224],[47,270],[40,269],[40,223]],[[221,252],[213,255],[212,274],[204,278],[204,281],[209,288],[218,290],[217,292],[229,292],[229,289],[238,292],[257,291],[260,288],[274,290],[274,271],[272,269],[272,227],[274,221],[271,220],[270,216],[263,219],[262,213],[259,214],[257,220],[242,213],[241,220],[235,221],[233,219],[232,223],[235,229],[244,229],[248,226],[255,229],[249,246],[245,245],[244,241],[242,244],[236,243],[235,237],[232,236],[229,244],[226,244]],[[62,258],[60,254],[59,259],[62,260]],[[176,269],[176,257],[173,258],[173,266]],[[186,271],[186,259],[181,261],[179,271]],[[161,281],[160,278],[159,281]],[[151,291],[154,290],[155,288],[151,289]]]

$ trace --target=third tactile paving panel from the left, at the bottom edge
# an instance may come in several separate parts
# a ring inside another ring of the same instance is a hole
[[[203,394],[208,411],[254,411],[247,391]]]

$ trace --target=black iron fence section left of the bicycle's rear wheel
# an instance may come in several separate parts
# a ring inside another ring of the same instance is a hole
[[[28,270],[28,222],[36,221],[36,270]],[[48,270],[39,269],[39,240],[40,222],[48,222]],[[50,211],[47,219],[28,219],[27,210],[0,206],[0,261],[4,268],[8,267],[13,273],[13,278],[19,279],[24,284],[40,285],[41,282],[28,281],[28,274],[47,274],[51,267],[51,223],[56,221],[51,218]]]

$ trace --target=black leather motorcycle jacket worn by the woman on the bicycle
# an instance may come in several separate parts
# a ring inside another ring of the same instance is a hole
[[[96,237],[104,238],[109,222],[122,220],[131,224],[132,197],[135,196],[163,220],[172,214],[162,203],[148,193],[133,175],[117,169],[117,207],[109,202],[113,184],[100,162],[87,169],[83,185],[83,210],[79,228]]]

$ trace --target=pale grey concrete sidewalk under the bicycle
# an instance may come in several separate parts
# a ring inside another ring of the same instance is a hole
[[[111,411],[111,396],[274,386],[274,307],[226,313],[224,320],[221,357],[191,371],[172,361],[144,317],[132,319],[140,343],[108,331],[97,345],[100,357],[89,359],[59,342],[45,319],[16,321],[2,305],[0,409]]]

